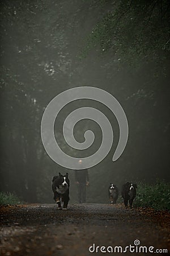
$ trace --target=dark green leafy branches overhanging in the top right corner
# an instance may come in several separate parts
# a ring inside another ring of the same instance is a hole
[[[118,63],[136,66],[142,59],[163,61],[170,49],[168,2],[122,0],[110,11],[105,1],[109,11],[87,37],[82,57],[96,48],[112,54]]]

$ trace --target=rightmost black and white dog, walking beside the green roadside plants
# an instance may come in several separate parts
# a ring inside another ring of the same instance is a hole
[[[128,201],[129,201],[130,208],[132,207],[133,200],[137,195],[136,188],[137,188],[137,185],[130,182],[126,182],[124,185],[122,185],[121,194],[124,199],[125,207],[128,207]]]

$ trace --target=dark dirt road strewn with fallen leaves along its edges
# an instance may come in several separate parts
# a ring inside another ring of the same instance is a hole
[[[161,249],[156,255],[168,255],[163,249],[170,249],[166,224],[122,205],[74,204],[67,210],[57,210],[54,204],[1,207],[0,234],[2,256],[121,255],[121,250],[125,255],[150,255],[156,249]]]

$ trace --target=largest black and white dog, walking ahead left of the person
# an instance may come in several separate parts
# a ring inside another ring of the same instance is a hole
[[[52,180],[52,189],[54,193],[54,200],[58,204],[58,208],[61,208],[61,201],[63,202],[63,209],[67,209],[69,202],[69,187],[70,181],[68,179],[68,174],[62,175],[59,172],[58,176],[54,176]],[[60,201],[61,199],[61,201]]]

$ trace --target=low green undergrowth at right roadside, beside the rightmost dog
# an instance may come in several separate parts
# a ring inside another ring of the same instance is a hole
[[[170,183],[164,181],[157,181],[152,185],[139,183],[134,206],[170,210]]]

